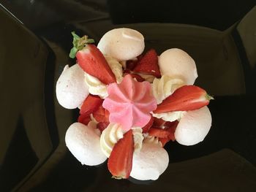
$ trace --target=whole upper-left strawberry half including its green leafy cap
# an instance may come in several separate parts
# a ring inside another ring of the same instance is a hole
[[[87,36],[78,37],[74,32],[73,45],[74,47],[69,53],[71,58],[74,55],[78,59],[79,66],[91,76],[97,77],[101,82],[110,84],[116,82],[115,74],[110,69],[104,55],[95,46],[88,43],[94,42],[93,39],[87,39]]]

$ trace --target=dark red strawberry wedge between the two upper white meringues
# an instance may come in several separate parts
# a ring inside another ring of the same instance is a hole
[[[161,73],[158,66],[158,58],[155,50],[151,49],[138,61],[137,66],[133,69],[134,72],[141,72],[146,74],[152,74],[155,77],[161,77]]]

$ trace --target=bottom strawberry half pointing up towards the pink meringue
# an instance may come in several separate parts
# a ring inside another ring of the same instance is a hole
[[[108,170],[116,179],[127,179],[132,171],[133,156],[132,129],[124,134],[124,137],[114,145],[108,158]]]

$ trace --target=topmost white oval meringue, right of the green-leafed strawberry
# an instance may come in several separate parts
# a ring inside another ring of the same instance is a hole
[[[114,28],[103,35],[97,45],[104,55],[127,61],[143,53],[145,43],[140,32],[131,28]]]

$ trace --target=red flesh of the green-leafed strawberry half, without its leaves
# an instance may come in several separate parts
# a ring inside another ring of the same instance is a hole
[[[108,66],[104,55],[95,45],[86,45],[76,53],[79,66],[88,74],[97,77],[101,82],[110,84],[116,82],[115,74]]]

